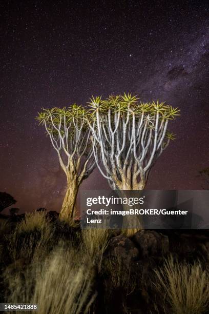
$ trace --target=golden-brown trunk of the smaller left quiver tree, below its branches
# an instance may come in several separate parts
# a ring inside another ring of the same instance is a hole
[[[76,180],[68,180],[66,195],[62,203],[59,218],[69,221],[75,218],[75,203],[78,193],[78,184]]]

